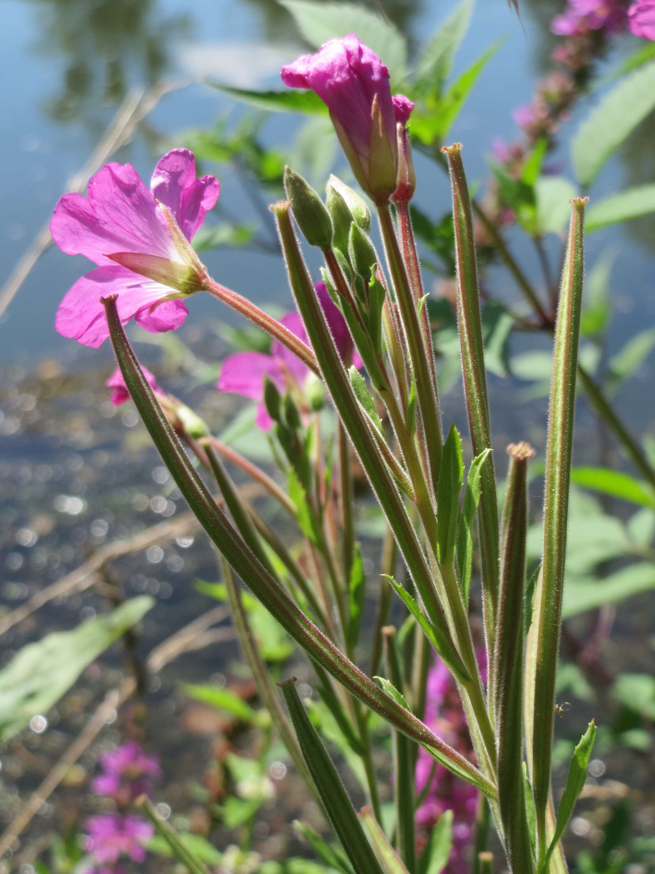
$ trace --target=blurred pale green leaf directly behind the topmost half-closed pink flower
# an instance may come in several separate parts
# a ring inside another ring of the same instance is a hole
[[[357,33],[389,67],[391,87],[407,73],[407,44],[393,24],[375,12],[353,3],[307,3],[279,0],[291,12],[302,36],[314,48],[333,37]]]

